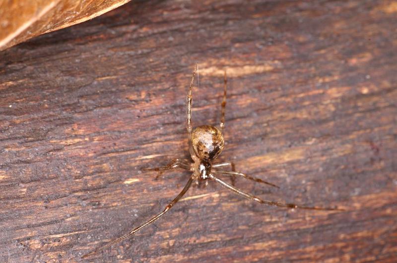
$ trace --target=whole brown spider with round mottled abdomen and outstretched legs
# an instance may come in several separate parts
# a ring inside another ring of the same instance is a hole
[[[108,244],[84,255],[82,258],[89,257],[105,248],[108,248],[115,243],[126,239],[137,231],[142,229],[145,226],[153,223],[157,219],[159,219],[162,215],[168,212],[175,204],[186,194],[189,190],[193,182],[199,184],[200,182],[204,182],[205,185],[208,184],[208,181],[215,181],[216,183],[220,184],[221,186],[225,187],[226,189],[231,190],[233,193],[258,202],[260,204],[264,204],[267,206],[276,206],[276,207],[286,207],[286,208],[297,208],[297,209],[310,209],[310,210],[341,210],[335,208],[320,208],[320,207],[307,207],[307,206],[300,206],[296,204],[288,204],[288,203],[278,203],[272,201],[263,200],[257,196],[244,192],[239,188],[234,186],[234,183],[229,184],[220,179],[218,176],[230,176],[232,182],[234,182],[235,176],[241,176],[245,179],[253,180],[255,182],[267,184],[276,188],[279,188],[277,185],[266,182],[262,179],[255,178],[249,176],[242,172],[235,171],[235,166],[233,162],[222,162],[222,163],[212,163],[222,152],[224,147],[224,139],[222,135],[223,128],[225,127],[225,108],[226,108],[226,86],[227,86],[227,78],[226,78],[226,70],[224,71],[224,88],[223,88],[223,100],[221,104],[221,119],[219,128],[210,125],[202,125],[198,126],[195,129],[192,129],[192,91],[193,91],[193,83],[195,80],[195,75],[198,70],[197,67],[193,70],[192,79],[190,82],[190,88],[187,96],[187,105],[188,105],[188,112],[187,112],[187,130],[188,130],[188,138],[189,138],[189,151],[191,158],[193,160],[185,160],[185,159],[173,159],[171,160],[166,166],[164,167],[157,167],[157,168],[145,168],[144,170],[151,170],[159,172],[158,176],[166,170],[172,170],[175,168],[182,168],[192,172],[191,176],[189,177],[188,182],[186,183],[185,187],[182,191],[177,195],[166,207],[165,209],[160,212],[159,214],[153,216],[145,223],[133,228],[129,233],[119,237],[116,240],[109,242]],[[231,171],[224,171],[221,170],[221,167],[230,166]]]

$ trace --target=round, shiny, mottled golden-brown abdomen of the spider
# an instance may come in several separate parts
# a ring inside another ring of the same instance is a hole
[[[199,126],[192,132],[192,147],[197,157],[202,160],[217,158],[223,146],[222,132],[214,126]]]

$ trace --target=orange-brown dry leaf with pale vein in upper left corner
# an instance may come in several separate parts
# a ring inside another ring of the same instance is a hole
[[[0,0],[0,51],[75,25],[130,0]]]

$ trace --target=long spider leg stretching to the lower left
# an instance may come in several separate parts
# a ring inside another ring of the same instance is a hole
[[[139,231],[139,230],[142,229],[143,227],[145,227],[145,226],[147,226],[147,225],[153,223],[154,221],[156,221],[156,220],[157,220],[158,218],[160,218],[163,214],[165,214],[166,212],[168,212],[168,211],[169,211],[169,210],[170,210],[170,209],[171,209],[171,208],[172,208],[184,195],[185,195],[185,193],[189,190],[190,186],[192,185],[192,182],[193,182],[193,178],[190,177],[190,178],[189,178],[189,181],[186,183],[186,185],[185,185],[185,187],[182,189],[181,193],[179,193],[179,195],[177,195],[177,197],[175,197],[174,200],[172,200],[172,201],[165,207],[165,209],[164,209],[161,213],[157,214],[156,216],[153,216],[152,218],[150,218],[148,221],[146,221],[145,223],[141,224],[140,226],[133,228],[128,234],[126,234],[126,235],[124,235],[124,236],[121,236],[121,237],[119,237],[118,239],[116,239],[116,240],[114,240],[114,241],[109,242],[109,243],[106,244],[105,246],[102,246],[102,247],[100,247],[99,249],[94,250],[93,252],[90,252],[90,253],[88,253],[88,254],[85,254],[84,256],[82,256],[82,258],[83,258],[83,259],[84,259],[84,258],[87,258],[87,257],[89,257],[89,256],[91,256],[91,255],[93,255],[93,254],[95,254],[95,253],[97,253],[97,252],[99,252],[99,251],[105,249],[105,248],[108,248],[108,247],[110,247],[110,246],[116,244],[117,242],[119,242],[119,241],[121,241],[121,240],[123,240],[123,239],[126,239],[126,238],[128,238],[129,236],[132,236],[133,234],[135,234],[137,231]]]

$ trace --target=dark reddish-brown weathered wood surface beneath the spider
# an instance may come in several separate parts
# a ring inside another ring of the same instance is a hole
[[[281,186],[286,210],[193,187],[96,262],[397,260],[397,3],[132,1],[0,53],[0,261],[79,262],[159,212],[189,173],[194,125],[217,124],[219,160]]]

